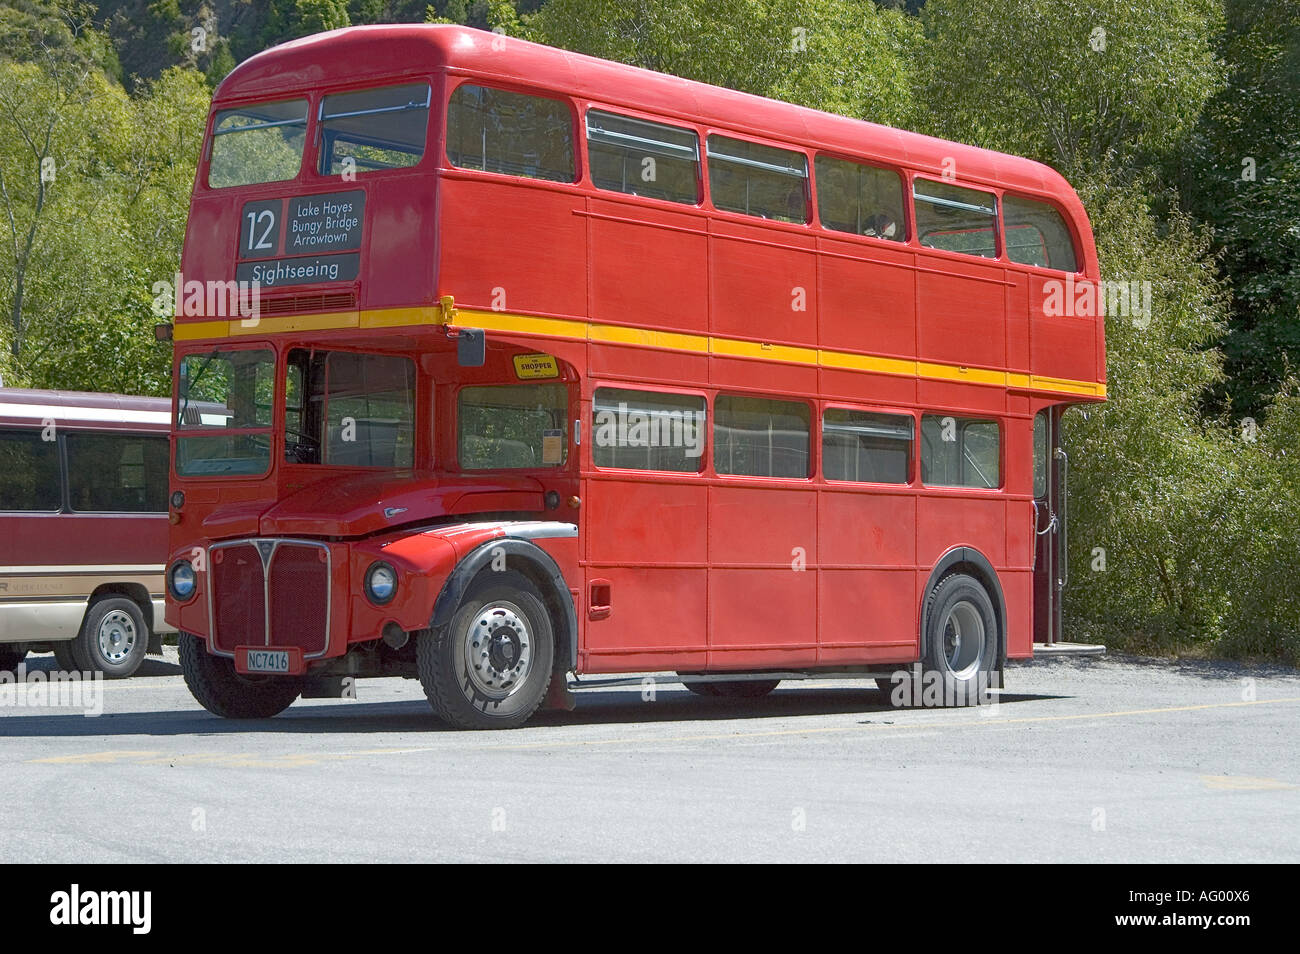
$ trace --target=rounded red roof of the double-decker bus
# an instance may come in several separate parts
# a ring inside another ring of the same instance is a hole
[[[1066,179],[1031,159],[455,25],[355,26],[291,40],[237,66],[217,87],[213,104],[220,108],[230,101],[363,79],[384,82],[437,69],[467,70],[702,125],[719,123],[933,175],[956,164],[962,181],[1040,192],[1078,208]]]

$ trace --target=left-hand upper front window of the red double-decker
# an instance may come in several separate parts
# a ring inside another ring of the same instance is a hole
[[[307,140],[307,100],[222,109],[212,123],[208,185],[283,182],[298,175]]]

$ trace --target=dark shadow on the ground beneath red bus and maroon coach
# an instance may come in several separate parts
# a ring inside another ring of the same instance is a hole
[[[1065,697],[1002,694],[1000,704],[1057,698]],[[456,732],[439,721],[422,699],[373,703],[299,701],[273,719],[220,719],[194,708],[105,712],[98,717],[79,712],[27,715],[27,711],[8,710],[0,715],[0,740]],[[914,710],[900,710],[888,704],[885,695],[874,688],[788,689],[776,690],[759,699],[702,698],[685,689],[663,688],[656,690],[653,699],[642,699],[640,693],[630,691],[586,690],[577,694],[577,708],[572,712],[554,710],[538,712],[525,729],[879,715],[906,711]]]

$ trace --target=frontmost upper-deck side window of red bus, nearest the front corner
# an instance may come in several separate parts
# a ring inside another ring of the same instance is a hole
[[[573,182],[568,103],[488,86],[458,86],[447,105],[447,160],[462,169]]]

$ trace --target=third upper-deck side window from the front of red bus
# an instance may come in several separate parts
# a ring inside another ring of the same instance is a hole
[[[809,160],[802,152],[708,136],[714,207],[779,222],[809,221]]]

